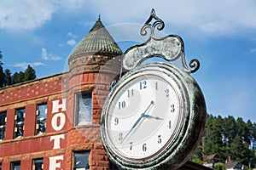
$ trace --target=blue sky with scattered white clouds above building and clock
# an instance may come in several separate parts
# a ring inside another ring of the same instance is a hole
[[[14,73],[32,65],[38,78],[63,72],[99,14],[125,51],[147,39],[138,31],[151,8],[164,20],[165,35],[183,37],[186,59],[200,60],[192,76],[205,95],[207,112],[256,122],[253,0],[0,0],[3,66]]]

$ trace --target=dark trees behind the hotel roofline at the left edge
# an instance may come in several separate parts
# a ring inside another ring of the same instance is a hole
[[[15,72],[13,75],[9,69],[3,70],[3,54],[0,51],[0,88],[36,79],[36,71],[31,65],[27,65],[25,71]]]

